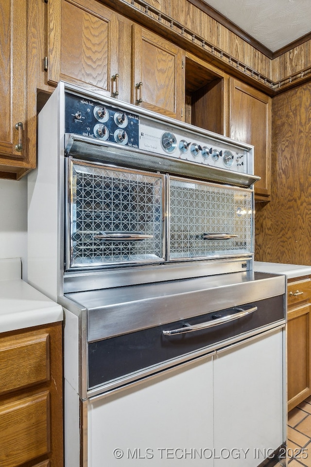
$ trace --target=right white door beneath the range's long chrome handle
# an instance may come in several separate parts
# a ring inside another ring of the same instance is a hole
[[[216,467],[257,467],[286,439],[283,331],[261,334],[214,358]]]

